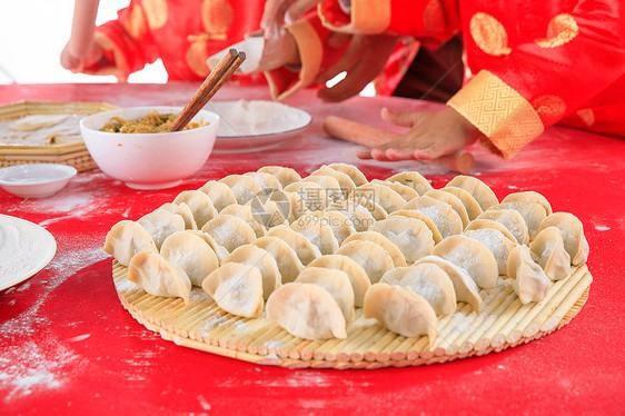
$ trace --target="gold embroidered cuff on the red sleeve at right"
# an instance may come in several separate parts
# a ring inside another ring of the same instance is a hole
[[[492,145],[487,147],[506,159],[545,130],[529,101],[486,70],[467,82],[447,106],[482,131]]]

